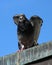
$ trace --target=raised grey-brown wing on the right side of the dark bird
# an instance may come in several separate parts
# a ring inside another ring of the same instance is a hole
[[[43,21],[39,16],[32,16],[30,22],[34,28],[34,40],[37,42]]]

